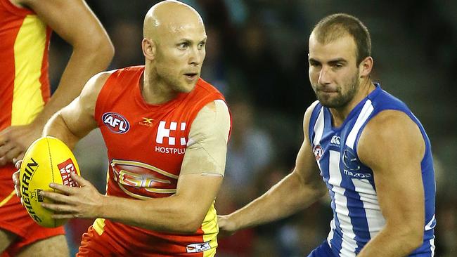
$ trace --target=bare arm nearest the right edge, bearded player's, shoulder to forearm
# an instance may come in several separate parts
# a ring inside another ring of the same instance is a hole
[[[363,130],[358,153],[373,170],[386,225],[359,256],[407,256],[422,244],[425,206],[420,162],[424,152],[418,126],[402,112],[381,112]]]

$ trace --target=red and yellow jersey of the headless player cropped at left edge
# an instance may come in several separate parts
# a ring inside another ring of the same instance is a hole
[[[49,100],[50,37],[30,9],[0,0],[0,130],[29,124]]]

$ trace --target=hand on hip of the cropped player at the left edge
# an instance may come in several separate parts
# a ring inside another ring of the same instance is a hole
[[[22,159],[25,150],[41,136],[42,126],[9,126],[0,131],[0,166]]]

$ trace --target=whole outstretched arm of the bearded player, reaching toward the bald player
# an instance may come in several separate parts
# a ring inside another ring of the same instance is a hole
[[[234,232],[290,216],[316,202],[327,192],[307,136],[311,110],[312,107],[309,107],[304,115],[304,140],[297,154],[295,169],[242,209],[219,216],[218,223],[222,231]]]

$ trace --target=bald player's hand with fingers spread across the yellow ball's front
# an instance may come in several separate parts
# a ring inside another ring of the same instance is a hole
[[[100,216],[104,196],[88,180],[76,173],[71,173],[79,187],[69,187],[50,183],[49,187],[60,192],[41,191],[41,196],[51,199],[54,203],[42,203],[46,209],[55,211],[52,218],[97,218]]]

